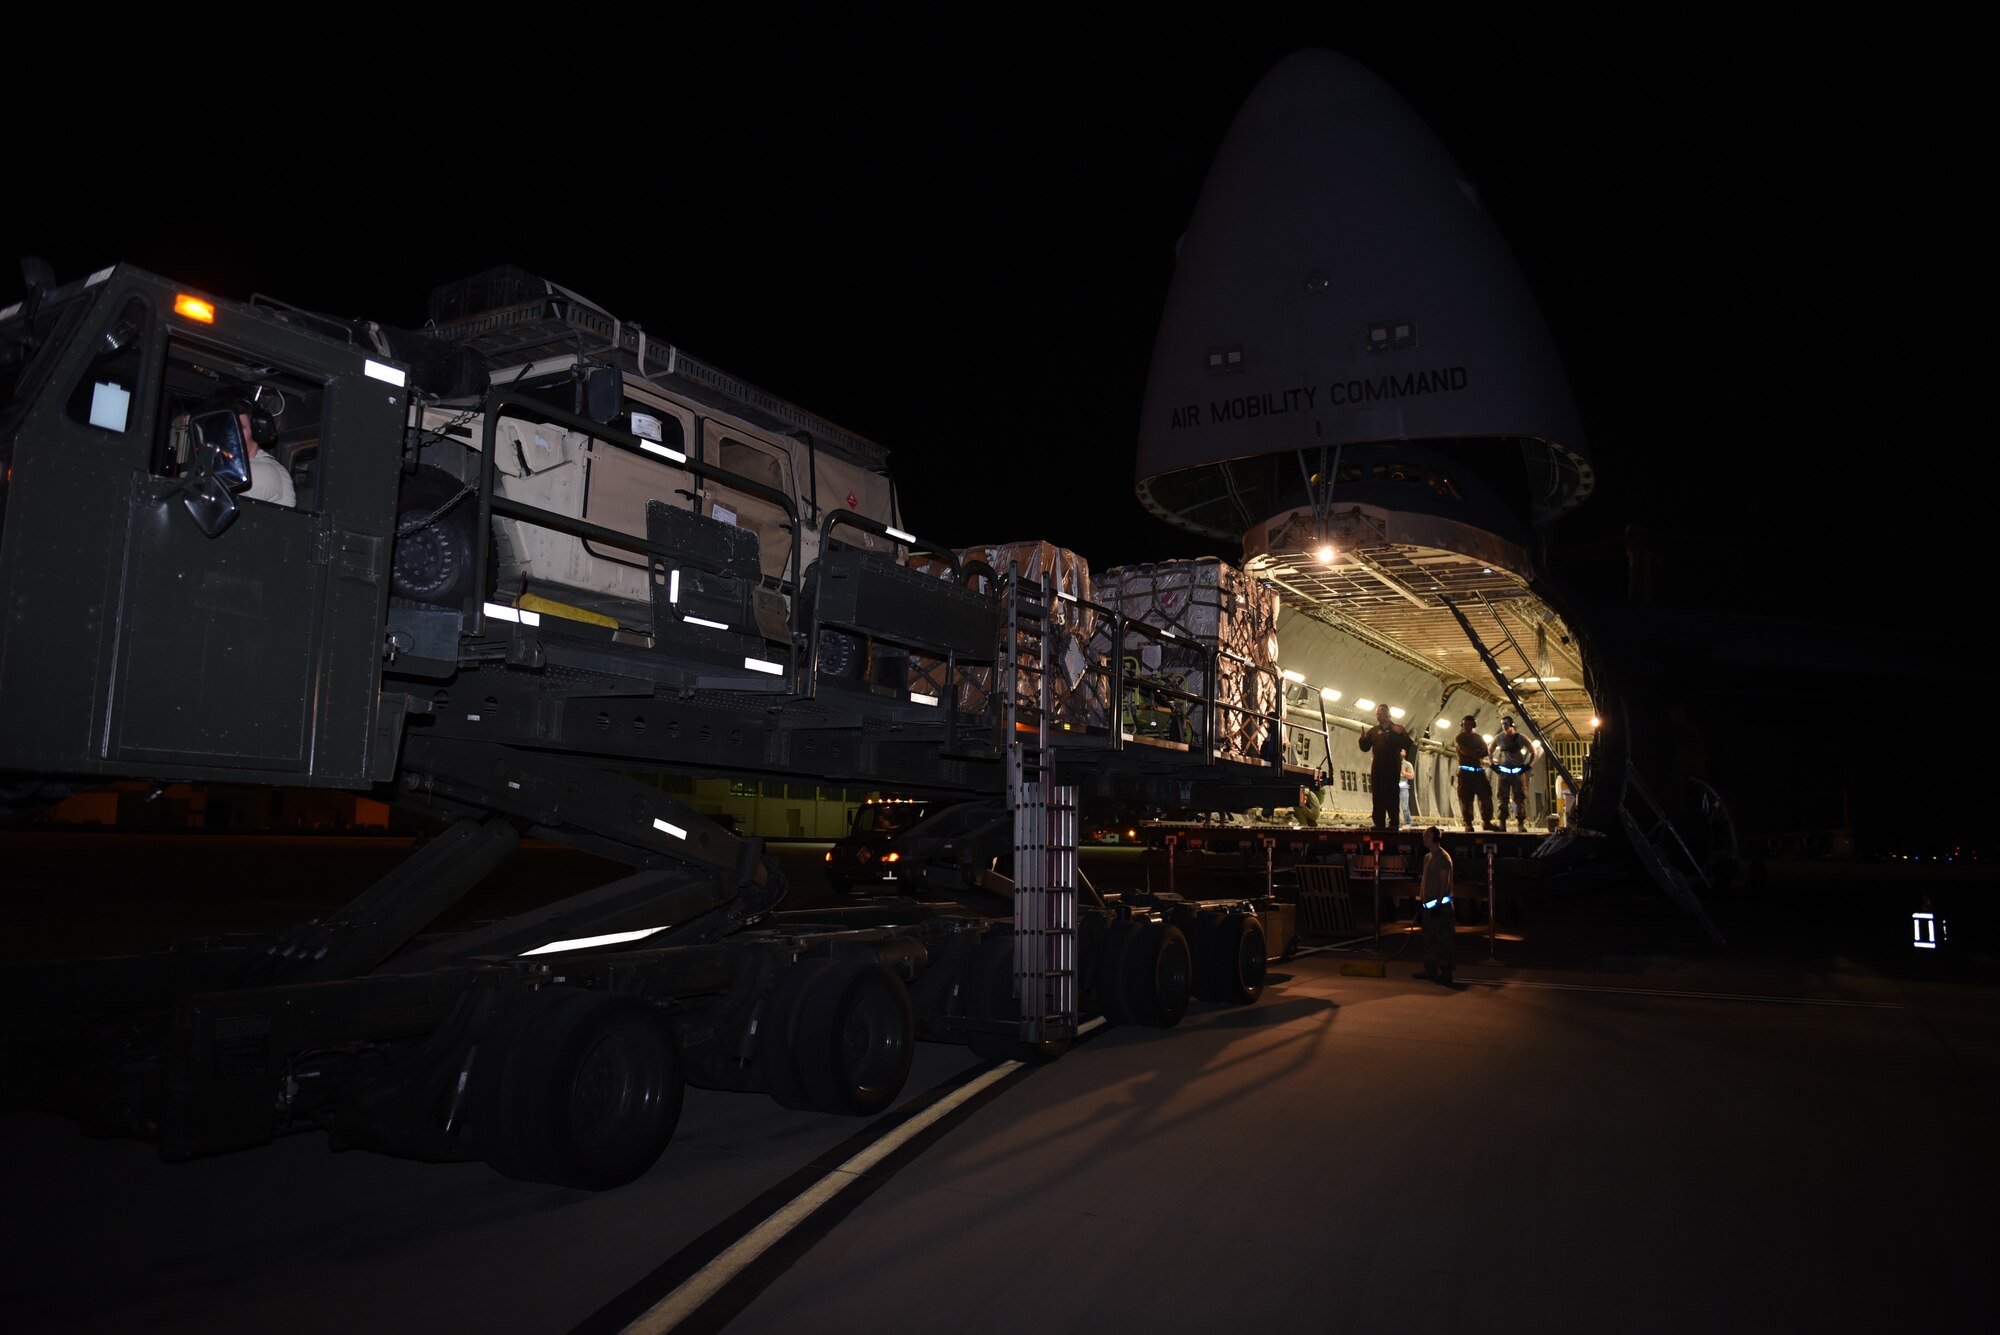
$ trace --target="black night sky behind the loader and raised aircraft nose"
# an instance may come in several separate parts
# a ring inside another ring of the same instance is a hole
[[[1880,765],[1960,763],[1990,687],[1970,38],[1916,10],[1088,14],[120,34],[86,78],[28,76],[52,114],[6,248],[402,326],[518,264],[880,442],[924,534],[1240,558],[1140,510],[1140,392],[1230,118],[1328,46],[1430,122],[1540,296],[1600,474],[1556,574],[1620,598],[1642,534],[1660,602],[1840,638],[1744,705],[1798,717],[1746,723],[1866,701],[1894,729],[1900,701],[1926,731]]]

